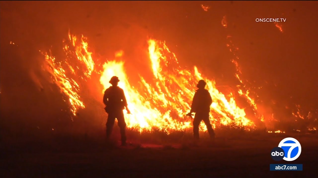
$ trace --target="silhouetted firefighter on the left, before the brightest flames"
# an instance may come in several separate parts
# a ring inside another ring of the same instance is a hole
[[[126,146],[126,123],[123,110],[126,108],[128,114],[130,114],[130,111],[127,106],[124,91],[118,86],[118,82],[118,77],[113,76],[109,81],[112,86],[107,88],[104,93],[103,102],[106,105],[105,111],[108,113],[106,123],[106,139],[109,141],[115,118],[117,118],[118,126],[121,132],[121,145]]]

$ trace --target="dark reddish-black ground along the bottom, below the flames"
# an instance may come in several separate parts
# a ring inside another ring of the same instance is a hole
[[[270,156],[285,137],[302,146],[300,157],[275,162]],[[315,177],[317,134],[245,135],[183,143],[132,143],[107,147],[90,139],[43,145],[2,146],[1,177]],[[59,146],[57,146],[59,145]],[[269,171],[271,163],[300,163],[303,171]]]

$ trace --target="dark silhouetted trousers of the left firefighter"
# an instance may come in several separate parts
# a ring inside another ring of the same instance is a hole
[[[108,113],[107,123],[106,123],[106,137],[109,139],[110,135],[112,134],[115,119],[117,118],[118,126],[120,128],[121,133],[121,142],[126,143],[126,123],[124,118],[124,112],[121,111],[113,111]]]

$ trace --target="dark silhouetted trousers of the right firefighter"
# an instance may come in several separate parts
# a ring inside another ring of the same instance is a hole
[[[199,139],[199,125],[203,120],[206,128],[208,129],[210,137],[213,139],[215,134],[214,130],[212,129],[212,125],[209,119],[209,113],[196,113],[193,120],[193,136],[195,139]]]

